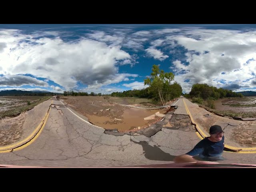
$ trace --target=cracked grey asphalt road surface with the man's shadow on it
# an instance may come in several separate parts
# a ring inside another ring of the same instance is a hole
[[[187,114],[184,112],[184,115]],[[54,100],[40,136],[26,148],[0,153],[0,164],[49,167],[166,164],[172,163],[175,156],[191,150],[199,141],[194,132],[168,127],[162,127],[150,138],[104,134],[104,129],[84,122],[60,101]],[[256,162],[255,154],[226,152],[224,157],[228,160],[223,163]]]

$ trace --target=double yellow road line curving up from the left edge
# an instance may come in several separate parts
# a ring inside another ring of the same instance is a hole
[[[25,139],[23,139],[20,142],[10,144],[10,145],[4,146],[4,147],[0,147],[0,153],[11,152],[12,149],[20,150],[20,149],[25,148],[26,146],[30,145],[32,143],[31,141],[32,140],[34,141],[35,140],[34,138],[38,138],[40,132],[42,132],[42,130],[47,122],[49,113],[50,113],[50,107],[49,107],[49,110],[46,112],[46,115],[44,116],[43,120],[40,122],[40,124],[36,127],[36,129],[28,137],[26,137]]]

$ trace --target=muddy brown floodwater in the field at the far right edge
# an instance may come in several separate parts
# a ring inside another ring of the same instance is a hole
[[[256,97],[248,97],[248,100],[251,100],[252,98],[256,99]],[[215,105],[216,110],[221,110],[221,111],[231,110],[231,111],[234,111],[234,112],[256,112],[256,107],[230,107],[228,105],[222,105],[223,100],[227,100],[227,98],[218,99],[218,100],[214,101],[214,105]],[[235,98],[235,99],[232,99],[232,100],[234,102],[236,100],[239,100],[239,98]],[[246,101],[244,101],[244,102],[248,103]]]

